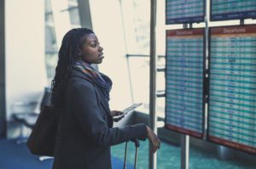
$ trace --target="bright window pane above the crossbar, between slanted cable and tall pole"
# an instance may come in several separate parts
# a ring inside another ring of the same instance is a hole
[[[127,54],[149,54],[150,1],[121,1]]]

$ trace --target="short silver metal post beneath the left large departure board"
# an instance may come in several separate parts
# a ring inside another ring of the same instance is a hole
[[[181,169],[189,169],[189,135],[181,134]]]

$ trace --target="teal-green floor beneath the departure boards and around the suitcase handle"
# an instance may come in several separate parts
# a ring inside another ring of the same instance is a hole
[[[140,142],[137,168],[148,168],[148,141]],[[180,147],[171,144],[161,143],[158,150],[158,169],[179,169],[180,168]],[[112,155],[119,159],[124,159],[125,144],[115,145],[112,148]],[[135,146],[132,142],[128,145],[128,161],[133,164],[135,156]],[[210,154],[206,150],[189,149],[189,169],[256,169],[256,161],[244,161],[232,159],[229,161],[218,160],[217,155]]]

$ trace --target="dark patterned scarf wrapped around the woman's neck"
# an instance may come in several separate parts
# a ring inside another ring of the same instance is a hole
[[[105,95],[105,99],[107,101],[109,100],[109,92],[112,87],[112,81],[108,76],[95,70],[90,64],[87,64],[80,60],[75,62],[73,68],[81,71],[84,76],[90,79],[90,81],[96,83],[97,86],[101,87]]]

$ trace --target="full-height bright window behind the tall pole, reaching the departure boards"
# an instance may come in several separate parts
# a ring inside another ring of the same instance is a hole
[[[165,1],[158,1],[157,14],[157,66],[164,67],[165,54]],[[150,0],[121,1],[128,65],[131,73],[133,101],[142,102],[137,110],[148,113],[149,107],[149,48]],[[157,90],[165,90],[165,74],[157,74]],[[164,117],[165,99],[157,99],[157,115]]]

